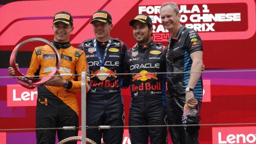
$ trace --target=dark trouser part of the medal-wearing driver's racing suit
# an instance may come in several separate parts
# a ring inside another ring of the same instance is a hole
[[[101,97],[102,96],[102,97]],[[124,107],[121,94],[89,95],[87,98],[86,125],[124,126]],[[124,129],[86,129],[86,138],[101,144],[122,144]]]

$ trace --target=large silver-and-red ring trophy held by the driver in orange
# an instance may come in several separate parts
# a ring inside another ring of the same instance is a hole
[[[49,76],[52,76],[52,77],[42,77],[42,78],[28,77],[28,76],[23,75],[22,73],[20,73],[19,69],[16,67],[16,65],[15,65],[16,57],[17,57],[17,54],[18,54],[20,48],[23,45],[25,45],[26,43],[34,42],[34,41],[43,42],[43,43],[49,45],[52,48],[52,50],[54,51],[55,58],[57,58],[57,59],[56,59],[56,65],[55,65],[54,69],[49,74]],[[42,85],[42,84],[45,84],[46,82],[50,81],[53,78],[53,75],[55,73],[57,73],[57,71],[60,68],[60,55],[59,55],[59,52],[56,49],[56,47],[51,42],[47,41],[46,39],[44,39],[44,38],[30,38],[30,39],[27,39],[26,41],[23,41],[23,42],[19,43],[14,48],[14,50],[12,51],[11,57],[10,57],[10,67],[12,67],[14,69],[15,76],[20,76],[20,77],[18,77],[18,83],[21,86],[26,87],[27,89],[34,89],[35,87],[37,87],[39,85]]]

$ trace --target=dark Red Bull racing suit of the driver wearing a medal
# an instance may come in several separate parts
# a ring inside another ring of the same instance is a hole
[[[106,53],[105,60],[101,64],[99,55],[97,55],[97,46],[100,56],[104,56]],[[86,124],[88,126],[123,126],[122,75],[116,74],[124,73],[126,45],[115,38],[110,38],[109,41],[103,43],[94,38],[84,41],[78,46],[78,49],[84,50],[91,73],[91,89],[87,93],[86,103]],[[102,67],[103,69],[101,69]],[[111,75],[100,76],[97,74]],[[123,128],[87,129],[86,137],[101,143],[102,133],[105,143],[122,143]]]

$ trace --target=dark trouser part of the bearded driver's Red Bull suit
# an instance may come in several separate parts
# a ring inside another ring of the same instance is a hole
[[[166,125],[166,111],[162,101],[132,101],[129,126]],[[152,144],[166,143],[167,127],[129,127],[131,143],[147,144],[148,138]]]

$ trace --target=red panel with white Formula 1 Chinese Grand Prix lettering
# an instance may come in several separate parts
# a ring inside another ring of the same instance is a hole
[[[168,33],[160,25],[161,19],[157,18],[160,6],[165,2],[145,0],[139,4],[139,13],[150,15],[153,24],[156,23],[153,27],[155,33]],[[173,2],[180,7],[182,25],[194,28],[203,40],[248,39],[255,34],[256,14],[253,0]]]

